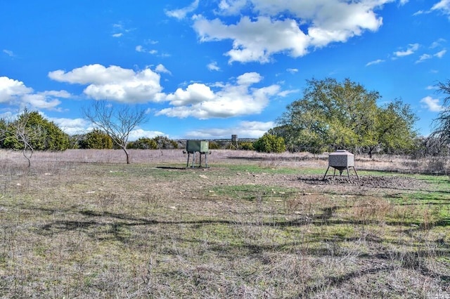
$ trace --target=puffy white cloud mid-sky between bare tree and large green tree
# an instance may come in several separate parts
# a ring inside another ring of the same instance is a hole
[[[253,87],[260,81],[261,75],[249,72],[240,75],[232,83],[211,86],[190,84],[185,89],[178,88],[167,95],[166,100],[174,107],[162,109],[156,115],[210,119],[257,114],[268,105],[271,96],[280,92],[278,85]]]

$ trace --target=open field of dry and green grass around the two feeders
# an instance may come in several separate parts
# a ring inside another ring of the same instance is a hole
[[[449,161],[186,159],[0,152],[0,297],[450,298]]]

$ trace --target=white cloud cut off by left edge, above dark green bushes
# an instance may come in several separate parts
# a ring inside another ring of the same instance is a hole
[[[67,91],[44,91],[37,93],[25,86],[22,81],[0,77],[0,103],[18,107],[37,109],[56,109],[60,105],[58,98],[69,98]]]

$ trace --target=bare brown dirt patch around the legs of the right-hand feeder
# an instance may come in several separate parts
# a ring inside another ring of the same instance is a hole
[[[420,189],[427,184],[421,180],[399,176],[375,176],[364,175],[359,179],[356,176],[327,176],[323,179],[322,175],[302,175],[297,178],[298,181],[310,185],[349,185],[371,188],[392,188],[392,189]]]

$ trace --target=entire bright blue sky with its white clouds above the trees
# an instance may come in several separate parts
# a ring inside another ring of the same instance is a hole
[[[450,0],[0,1],[0,117],[86,133],[94,100],[146,109],[131,140],[258,138],[308,79],[400,98],[421,135],[450,79]]]

